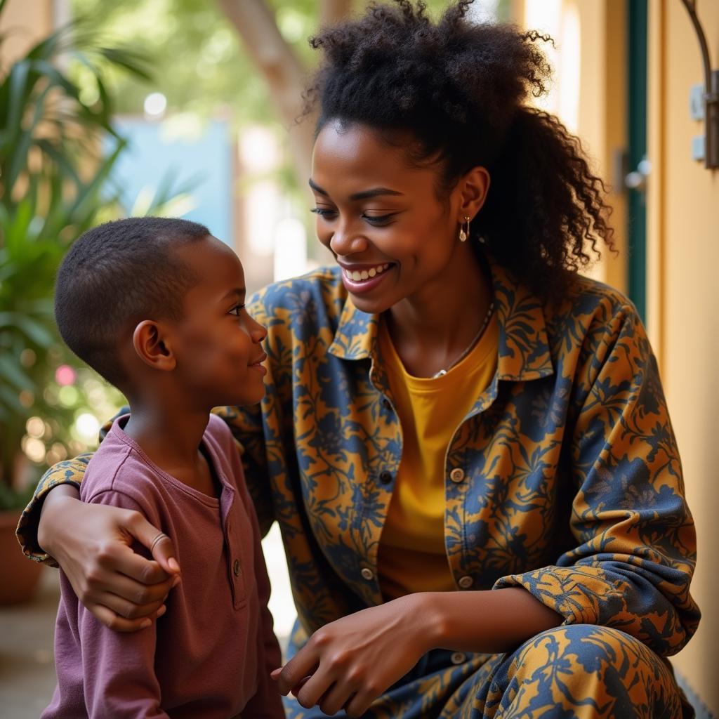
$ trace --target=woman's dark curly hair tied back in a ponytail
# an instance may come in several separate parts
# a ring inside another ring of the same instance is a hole
[[[471,168],[490,172],[490,191],[472,223],[495,260],[541,296],[559,296],[599,242],[614,249],[605,186],[577,137],[528,106],[546,93],[551,68],[537,32],[473,24],[472,0],[438,22],[411,0],[372,4],[364,16],[323,29],[312,47],[324,62],[305,94],[329,120],[366,124],[416,164],[437,162],[440,193]],[[407,137],[413,142],[407,142]]]

